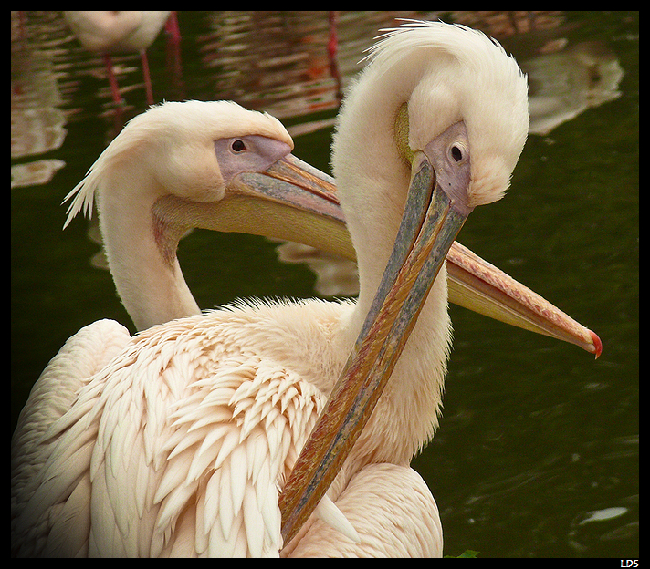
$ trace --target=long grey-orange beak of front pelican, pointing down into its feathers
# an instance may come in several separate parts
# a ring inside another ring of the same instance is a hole
[[[402,224],[382,283],[341,378],[280,496],[284,543],[309,518],[370,418],[469,213],[458,209],[435,183],[435,171],[424,153],[416,152],[413,164]]]

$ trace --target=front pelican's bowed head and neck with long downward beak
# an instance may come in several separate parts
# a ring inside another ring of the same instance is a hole
[[[388,31],[369,60],[332,147],[359,259],[359,323],[351,326],[359,336],[282,494],[285,543],[341,469],[425,304],[420,351],[409,362],[435,362],[439,408],[451,335],[446,278],[436,275],[446,276],[446,253],[469,213],[504,195],[528,133],[526,77],[480,32],[408,22]],[[401,378],[416,374],[401,370]]]

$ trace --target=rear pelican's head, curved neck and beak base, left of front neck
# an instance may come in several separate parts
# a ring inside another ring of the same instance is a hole
[[[229,101],[163,103],[132,119],[68,194],[64,227],[90,215],[97,194],[110,272],[137,328],[198,314],[176,259],[193,227],[348,243],[330,178],[292,149],[267,113]]]

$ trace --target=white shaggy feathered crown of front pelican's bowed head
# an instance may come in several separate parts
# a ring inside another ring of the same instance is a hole
[[[467,26],[406,20],[368,49],[367,75],[399,67],[416,78],[409,143],[423,145],[463,120],[472,147],[472,205],[502,197],[529,127],[528,82],[494,39]]]

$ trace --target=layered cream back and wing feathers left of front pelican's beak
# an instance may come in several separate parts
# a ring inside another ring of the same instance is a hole
[[[351,305],[300,306],[326,331]],[[278,491],[325,401],[283,361],[286,347],[267,341],[269,320],[286,307],[239,304],[133,338],[101,322],[70,338],[46,380],[82,342],[91,346],[89,336],[108,329],[119,341],[79,371],[86,376],[70,389],[68,411],[51,413],[40,440],[28,431],[23,448],[47,448],[47,460],[29,470],[33,491],[13,486],[16,499],[29,495],[13,522],[16,535],[44,538],[26,539],[33,549],[16,553],[278,556]],[[249,333],[236,345],[241,326]],[[181,536],[191,546],[179,549]]]

